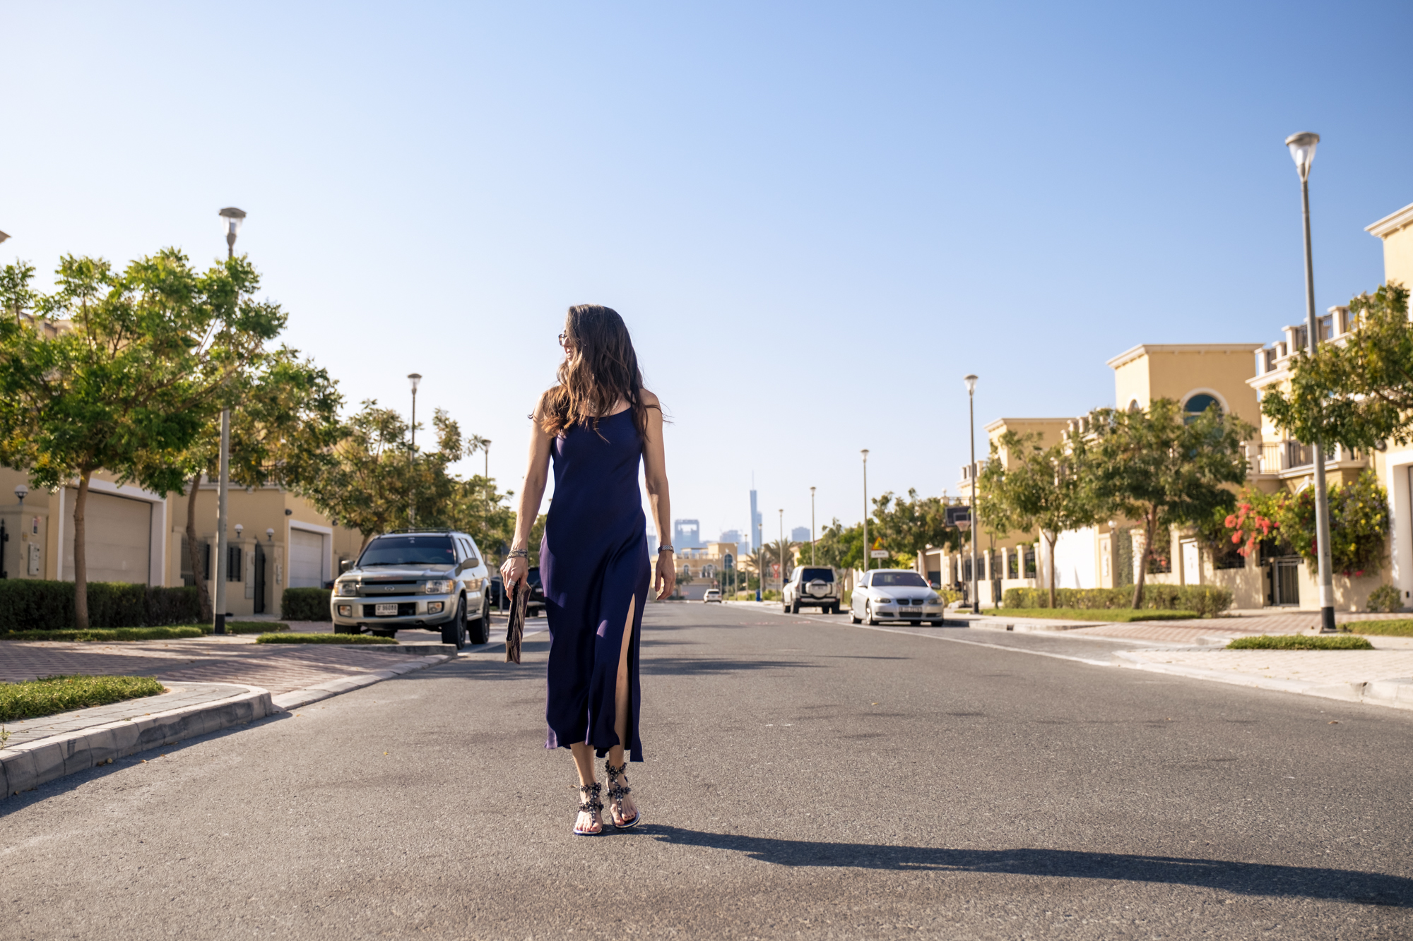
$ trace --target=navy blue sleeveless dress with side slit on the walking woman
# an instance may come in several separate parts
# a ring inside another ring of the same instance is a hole
[[[650,568],[647,519],[637,486],[643,441],[633,410],[569,428],[554,439],[554,497],[540,544],[540,578],[550,622],[545,747],[619,745],[615,691],[623,625],[633,605],[627,651],[629,721],[623,747],[643,760],[637,735],[637,660]]]

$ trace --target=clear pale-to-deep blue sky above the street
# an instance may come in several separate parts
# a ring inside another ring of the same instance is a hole
[[[978,427],[1112,404],[1140,342],[1270,342],[1413,202],[1407,3],[0,6],[0,263],[225,250],[350,403],[519,487],[564,309],[617,308],[674,513],[767,533],[955,487]],[[478,456],[476,465],[480,459]]]

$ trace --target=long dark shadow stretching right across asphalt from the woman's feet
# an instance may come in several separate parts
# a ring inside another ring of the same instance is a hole
[[[982,872],[1064,879],[1202,886],[1248,896],[1330,899],[1362,904],[1413,907],[1413,879],[1376,872],[1316,866],[1270,866],[1228,859],[1181,859],[1072,849],[940,849],[876,844],[828,844],[706,834],[646,824],[643,835],[677,846],[740,852],[777,866],[839,866],[856,869]]]

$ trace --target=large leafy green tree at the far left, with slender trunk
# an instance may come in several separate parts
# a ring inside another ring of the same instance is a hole
[[[284,328],[278,305],[257,302],[244,257],[205,274],[177,249],[116,271],[64,256],[51,294],[34,268],[0,276],[0,462],[44,487],[78,485],[73,502],[75,623],[88,627],[89,482],[181,490],[179,455],[220,410],[229,387]]]

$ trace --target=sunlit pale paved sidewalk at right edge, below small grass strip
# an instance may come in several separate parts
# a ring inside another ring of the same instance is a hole
[[[1413,677],[1413,650],[1140,650],[1147,663],[1313,684]]]

